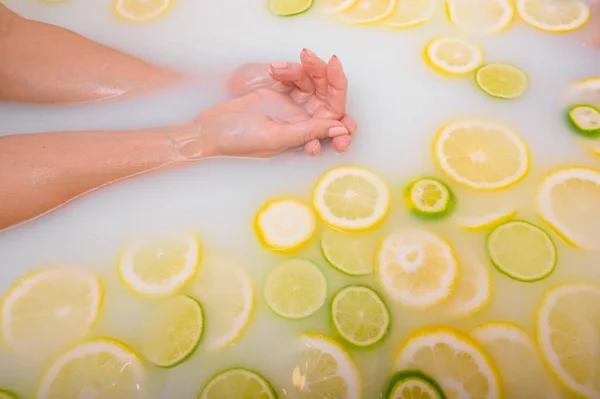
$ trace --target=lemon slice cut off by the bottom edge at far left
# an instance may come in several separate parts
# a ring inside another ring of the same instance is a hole
[[[144,368],[135,353],[110,339],[79,344],[44,374],[38,399],[144,398]]]

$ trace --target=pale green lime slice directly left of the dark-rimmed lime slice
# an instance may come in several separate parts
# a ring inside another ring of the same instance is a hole
[[[277,266],[265,282],[265,299],[277,315],[302,319],[319,310],[327,297],[327,280],[314,263],[290,259]]]

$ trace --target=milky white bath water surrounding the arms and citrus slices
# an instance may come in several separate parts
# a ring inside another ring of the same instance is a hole
[[[92,269],[103,279],[106,298],[91,336],[116,337],[136,349],[139,322],[154,302],[130,294],[118,280],[117,258],[129,239],[142,233],[191,228],[202,238],[206,253],[225,253],[245,265],[257,292],[257,310],[247,333],[236,345],[213,354],[201,346],[189,361],[172,370],[148,365],[154,377],[155,398],[195,398],[210,376],[236,366],[261,372],[280,397],[287,397],[294,359],[291,343],[304,331],[332,334],[325,308],[305,321],[290,322],[275,316],[263,300],[267,272],[285,259],[263,249],[252,228],[255,212],[266,200],[294,196],[308,201],[316,179],[325,170],[357,164],[383,176],[393,194],[392,214],[374,234],[417,224],[401,201],[403,187],[421,175],[441,177],[431,159],[432,137],[441,125],[469,116],[495,118],[518,130],[530,146],[532,170],[524,182],[501,193],[480,194],[451,185],[459,198],[457,214],[471,207],[497,210],[507,205],[517,208],[520,218],[540,224],[532,197],[541,176],[565,165],[600,168],[600,159],[574,139],[560,112],[566,85],[596,76],[600,70],[600,50],[584,44],[589,38],[585,30],[550,35],[516,21],[497,37],[477,38],[487,60],[514,63],[530,75],[527,94],[507,102],[486,97],[469,78],[449,79],[426,67],[422,59],[425,44],[438,35],[456,33],[443,13],[423,27],[392,31],[344,26],[317,10],[280,19],[269,15],[266,1],[258,0],[175,0],[166,17],[141,25],[117,19],[110,1],[5,3],[26,17],[55,23],[150,61],[199,74],[226,71],[245,62],[296,60],[303,47],[326,58],[337,54],[344,63],[351,86],[348,112],[360,126],[352,150],[345,154],[326,151],[314,159],[300,155],[271,161],[203,161],[114,184],[33,222],[0,232],[0,293],[39,267],[75,264]],[[125,103],[85,107],[3,104],[0,134],[183,122],[222,101],[218,86],[213,82],[211,86]],[[485,234],[460,233],[451,219],[428,222],[427,227],[450,239],[459,253],[473,252],[485,259]],[[468,331],[483,321],[506,320],[531,333],[534,310],[545,289],[564,281],[600,282],[597,252],[577,251],[552,237],[559,264],[542,282],[511,281],[488,265],[496,296],[475,317],[447,321],[388,301],[393,328],[385,343],[374,350],[350,349],[365,383],[364,397],[378,397],[390,375],[389,363],[398,344],[419,326],[447,323]],[[330,296],[351,282],[374,286],[372,277],[342,277],[328,266],[316,240],[300,255],[322,266],[329,279]],[[19,360],[0,347],[0,387],[33,397],[47,364]]]

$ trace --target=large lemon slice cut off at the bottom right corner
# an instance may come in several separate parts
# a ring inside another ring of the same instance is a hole
[[[567,284],[548,291],[536,318],[537,342],[558,380],[584,398],[600,398],[600,287]]]

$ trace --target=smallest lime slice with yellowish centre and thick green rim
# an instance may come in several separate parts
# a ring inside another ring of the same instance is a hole
[[[419,179],[411,183],[404,193],[408,208],[425,217],[444,216],[452,207],[453,195],[441,181],[432,178]]]

